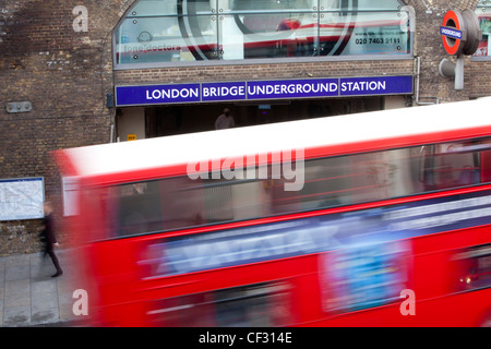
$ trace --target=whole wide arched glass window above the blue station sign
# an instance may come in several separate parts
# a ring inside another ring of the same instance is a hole
[[[397,0],[140,0],[115,31],[116,67],[409,55]]]

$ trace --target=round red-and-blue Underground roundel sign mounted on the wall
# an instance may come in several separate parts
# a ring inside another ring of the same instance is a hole
[[[440,34],[448,55],[472,55],[482,37],[479,21],[470,10],[448,11],[443,17]]]

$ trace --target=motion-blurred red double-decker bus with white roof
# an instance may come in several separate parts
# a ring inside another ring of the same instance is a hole
[[[86,243],[95,324],[486,324],[489,108],[482,99],[59,152],[63,174],[80,181],[73,229]],[[407,289],[416,315],[403,314]]]

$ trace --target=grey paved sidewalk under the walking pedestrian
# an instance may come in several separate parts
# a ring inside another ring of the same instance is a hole
[[[0,257],[0,327],[71,326],[81,318],[72,312],[76,299],[76,268],[70,250],[56,251],[63,275],[52,278],[56,269],[43,253]]]

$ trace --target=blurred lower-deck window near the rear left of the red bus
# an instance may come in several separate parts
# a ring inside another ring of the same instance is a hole
[[[267,327],[291,321],[288,286],[248,285],[169,298],[149,303],[153,326]]]

